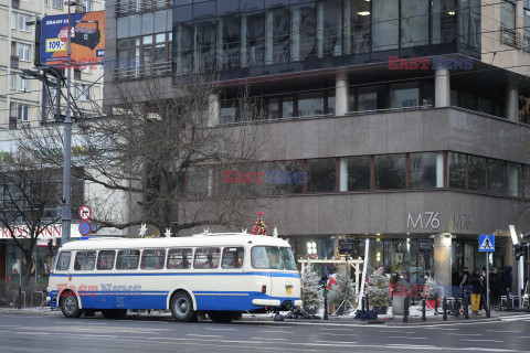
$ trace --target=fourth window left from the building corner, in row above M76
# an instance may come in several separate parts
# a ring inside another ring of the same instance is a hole
[[[335,158],[307,161],[308,192],[336,191],[337,161]]]

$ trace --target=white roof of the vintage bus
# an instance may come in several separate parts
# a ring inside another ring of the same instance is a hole
[[[70,242],[61,246],[61,250],[243,246],[245,244],[289,246],[289,243],[286,240],[272,236],[250,235],[245,233],[218,233],[171,238],[92,238],[87,240]]]

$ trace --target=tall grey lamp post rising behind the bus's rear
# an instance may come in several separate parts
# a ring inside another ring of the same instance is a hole
[[[76,1],[66,1],[64,3],[68,7],[68,33],[67,33],[67,54],[66,54],[66,118],[64,119],[64,165],[63,165],[63,212],[61,218],[61,240],[62,244],[70,242],[70,231],[72,225],[72,210],[71,210],[71,184],[70,178],[72,174],[72,115],[70,107],[70,89],[72,86],[72,18],[71,7],[77,4]]]

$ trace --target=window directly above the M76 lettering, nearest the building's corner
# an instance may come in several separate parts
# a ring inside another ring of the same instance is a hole
[[[444,188],[444,154],[442,152],[411,153],[411,189]]]

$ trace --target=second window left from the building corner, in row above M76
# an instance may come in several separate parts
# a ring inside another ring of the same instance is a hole
[[[405,154],[383,154],[373,158],[374,189],[405,188]]]

